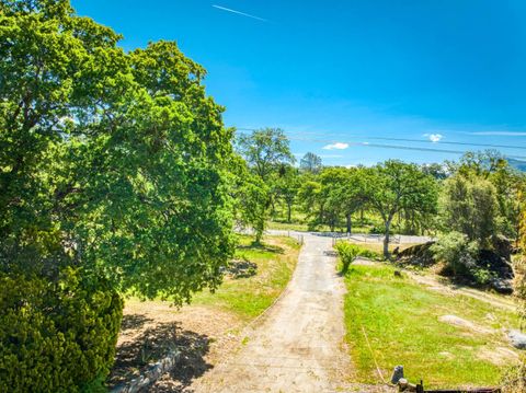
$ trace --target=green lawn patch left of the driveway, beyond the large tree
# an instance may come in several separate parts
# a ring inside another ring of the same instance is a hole
[[[226,278],[215,293],[197,293],[193,304],[224,308],[250,320],[274,302],[293,275],[300,246],[289,238],[265,236],[262,245],[254,245],[252,241],[252,236],[241,236],[236,258],[258,264],[258,274],[248,278]]]

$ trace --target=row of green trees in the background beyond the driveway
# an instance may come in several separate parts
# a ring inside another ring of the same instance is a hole
[[[351,233],[357,223],[361,230],[382,233],[386,256],[392,232],[455,231],[480,246],[491,236],[518,236],[526,177],[496,151],[466,153],[442,164],[388,160],[370,167],[323,166],[309,152],[297,165],[279,129],[241,135],[237,151],[248,165],[243,178],[258,188],[242,197],[243,205],[252,204],[244,222],[256,230],[258,240],[268,220],[291,222],[293,211],[312,230],[343,228]],[[285,207],[282,217],[278,206]],[[241,210],[241,221],[243,215]]]

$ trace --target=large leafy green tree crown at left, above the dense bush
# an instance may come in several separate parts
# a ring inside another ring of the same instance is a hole
[[[124,53],[68,1],[2,1],[0,253],[175,303],[233,252],[232,130],[175,43]],[[65,252],[66,248],[66,252]]]

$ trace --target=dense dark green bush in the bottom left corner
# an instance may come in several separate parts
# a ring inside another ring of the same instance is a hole
[[[102,389],[123,301],[103,279],[67,268],[56,282],[0,274],[0,391]]]

